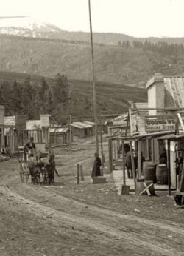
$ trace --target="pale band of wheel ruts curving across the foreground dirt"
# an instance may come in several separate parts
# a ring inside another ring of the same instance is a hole
[[[62,226],[63,221],[68,226],[75,226],[79,232],[96,234],[103,240],[119,239],[116,243],[128,243],[131,248],[140,252],[148,250],[149,255],[183,255],[180,250],[180,240],[184,232],[182,227],[178,228],[166,223],[160,223],[145,218],[138,218],[133,215],[124,215],[116,211],[103,209],[100,206],[92,206],[89,203],[81,203],[71,198],[56,195],[53,198],[51,191],[32,186],[14,187],[12,190],[7,187],[0,187],[6,190],[26,209],[29,209],[36,216],[46,219],[54,226]],[[14,190],[15,189],[15,190]],[[28,192],[28,198],[21,195],[21,189]],[[43,195],[48,198],[48,203],[38,203],[32,198],[36,195]],[[69,211],[69,209],[72,209]],[[173,238],[169,240],[169,234]],[[177,244],[178,243],[178,244]],[[176,249],[176,244],[178,248]]]

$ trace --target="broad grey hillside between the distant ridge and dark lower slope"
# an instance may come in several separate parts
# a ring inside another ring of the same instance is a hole
[[[1,22],[0,22],[1,23]],[[58,38],[57,32],[31,33],[25,37],[0,33],[0,70],[54,78],[91,80],[91,45],[86,40]],[[27,32],[26,32],[27,33]],[[67,33],[62,30],[62,33]],[[39,34],[39,37],[37,35]],[[71,35],[71,34],[70,34]],[[77,34],[78,35],[78,34]],[[110,36],[116,34],[110,34]],[[94,38],[96,34],[94,33]],[[129,36],[130,38],[130,36]],[[76,38],[77,39],[77,38]],[[107,40],[107,38],[105,38]],[[108,40],[107,40],[108,41]],[[155,73],[183,75],[184,46],[123,41],[100,44],[94,41],[96,81],[145,87]]]

